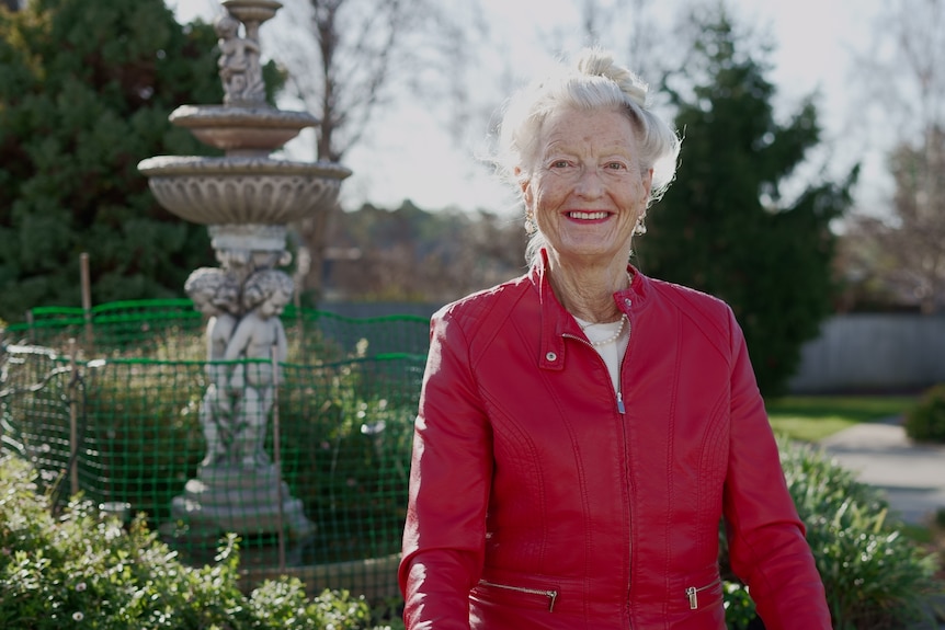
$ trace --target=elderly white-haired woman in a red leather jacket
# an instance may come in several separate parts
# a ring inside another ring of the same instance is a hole
[[[725,628],[718,527],[768,630],[830,628],[742,333],[628,265],[679,139],[599,50],[502,124],[527,275],[433,317],[408,629]]]

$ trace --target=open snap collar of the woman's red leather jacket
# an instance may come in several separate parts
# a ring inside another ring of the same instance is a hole
[[[647,305],[652,294],[652,280],[633,265],[628,264],[627,271],[634,276],[633,283],[628,288],[615,293],[614,301],[617,308],[633,321],[634,313],[638,313]],[[528,272],[528,278],[538,295],[540,311],[542,336],[538,366],[544,369],[563,369],[566,335],[583,339],[584,333],[551,289],[551,283],[548,279],[548,253],[544,249],[538,261]]]

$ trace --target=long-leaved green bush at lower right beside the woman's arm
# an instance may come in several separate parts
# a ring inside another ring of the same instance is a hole
[[[941,592],[936,559],[907,539],[888,518],[879,492],[810,445],[783,442],[781,459],[807,540],[823,580],[836,630],[904,628],[927,616]],[[722,562],[725,565],[725,562]],[[744,629],[750,606],[727,588],[730,628]]]

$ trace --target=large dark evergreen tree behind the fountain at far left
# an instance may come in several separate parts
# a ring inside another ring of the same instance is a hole
[[[212,151],[168,115],[221,102],[216,39],[163,0],[0,8],[0,318],[79,306],[82,252],[95,302],[180,297],[212,264],[206,228],[160,207],[137,164]]]

